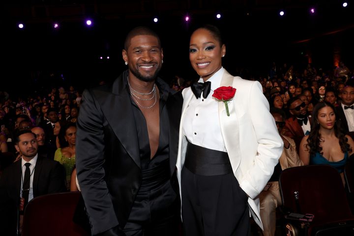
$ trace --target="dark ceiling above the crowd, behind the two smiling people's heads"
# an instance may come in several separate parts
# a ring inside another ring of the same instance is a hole
[[[161,36],[164,73],[190,76],[188,40],[193,27],[212,23],[224,32],[226,66],[266,69],[279,63],[307,62],[331,67],[333,55],[353,55],[354,5],[339,0],[11,0],[2,5],[5,66],[22,74],[38,71],[76,71],[78,80],[116,77],[124,68],[121,49],[126,32],[147,25]],[[315,14],[310,14],[310,7]],[[284,9],[284,17],[279,16]],[[217,20],[216,13],[222,18]],[[183,18],[188,14],[189,23]],[[153,17],[159,17],[157,24]],[[86,17],[93,26],[84,27]],[[18,22],[25,28],[16,28]],[[59,29],[52,24],[58,22]],[[110,56],[98,60],[99,56]],[[353,60],[353,59],[352,59]],[[5,67],[6,68],[6,67]],[[230,70],[232,70],[230,69]],[[236,69],[235,69],[236,70]],[[262,72],[260,72],[262,73]],[[192,76],[195,76],[192,74]]]

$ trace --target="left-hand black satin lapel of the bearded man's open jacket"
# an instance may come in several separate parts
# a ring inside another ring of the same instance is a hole
[[[139,142],[130,97],[126,89],[122,88],[123,78],[120,77],[118,80],[121,81],[113,84],[119,87],[118,94],[107,92],[102,99],[98,98],[98,100],[118,140],[140,167]],[[117,88],[114,89],[117,90]]]

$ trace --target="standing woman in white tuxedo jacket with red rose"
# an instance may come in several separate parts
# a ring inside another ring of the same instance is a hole
[[[225,53],[215,26],[192,33],[200,80],[182,92],[177,156],[186,236],[249,235],[250,215],[263,228],[258,195],[283,149],[260,83],[230,75]]]

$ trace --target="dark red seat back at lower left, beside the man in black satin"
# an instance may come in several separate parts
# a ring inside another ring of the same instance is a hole
[[[73,222],[81,192],[48,194],[32,199],[24,213],[22,236],[89,236]]]

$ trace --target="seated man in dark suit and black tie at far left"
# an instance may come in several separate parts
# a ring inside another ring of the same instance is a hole
[[[16,232],[17,210],[38,196],[65,191],[65,170],[57,161],[39,158],[36,136],[20,130],[14,136],[21,159],[7,167],[0,179],[0,229],[4,235]],[[29,164],[28,164],[29,163]],[[29,178],[26,171],[29,169]]]

